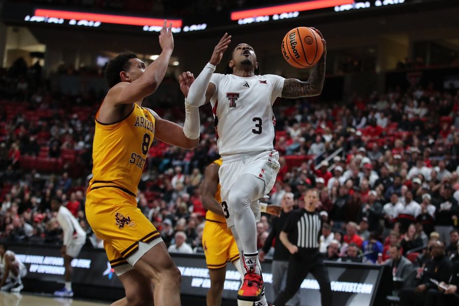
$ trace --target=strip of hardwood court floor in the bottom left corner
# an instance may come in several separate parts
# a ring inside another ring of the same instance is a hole
[[[0,292],[0,306],[100,306],[103,302],[86,302],[71,298]]]

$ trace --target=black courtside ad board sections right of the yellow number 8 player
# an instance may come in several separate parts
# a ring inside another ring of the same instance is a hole
[[[172,255],[172,259],[182,273],[182,294],[205,296],[210,288],[210,278],[203,258],[175,254]],[[387,294],[390,295],[392,279],[389,274],[382,273],[384,266],[336,262],[326,262],[326,266],[334,305],[379,305],[384,304]],[[262,270],[266,297],[268,301],[274,301],[271,289],[271,262],[264,262]],[[384,282],[386,287],[381,284],[383,274],[386,277]],[[234,299],[240,284],[239,273],[232,264],[228,264],[222,297]],[[300,290],[301,305],[320,306],[319,284],[311,274],[304,279]],[[376,295],[384,297],[376,299]]]

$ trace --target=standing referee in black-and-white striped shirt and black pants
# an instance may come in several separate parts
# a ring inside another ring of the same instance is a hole
[[[322,261],[323,255],[319,252],[322,222],[316,213],[318,201],[317,189],[309,189],[304,195],[305,208],[290,214],[279,236],[291,255],[285,289],[274,302],[276,306],[285,306],[309,272],[319,283],[322,306],[331,306],[330,279]]]

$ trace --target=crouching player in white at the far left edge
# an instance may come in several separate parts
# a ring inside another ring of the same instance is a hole
[[[27,268],[5,243],[0,243],[0,258],[0,272],[2,273],[0,288],[2,291],[20,292],[24,288],[21,278],[27,274]]]

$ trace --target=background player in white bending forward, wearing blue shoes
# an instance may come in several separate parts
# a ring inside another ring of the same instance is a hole
[[[64,246],[61,249],[65,267],[65,287],[54,293],[56,296],[72,297],[72,259],[76,258],[86,242],[86,232],[64,206],[59,198],[51,200],[51,209],[58,212],[57,220],[62,227]]]

